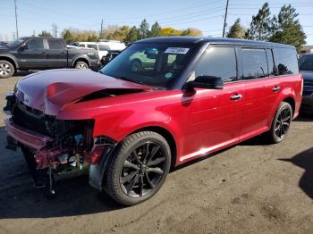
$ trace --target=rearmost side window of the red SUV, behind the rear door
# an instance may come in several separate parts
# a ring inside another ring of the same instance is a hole
[[[278,75],[298,74],[297,53],[293,48],[275,48]]]

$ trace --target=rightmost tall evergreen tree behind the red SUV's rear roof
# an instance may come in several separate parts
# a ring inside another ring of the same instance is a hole
[[[300,21],[297,19],[298,13],[291,4],[283,5],[278,17],[275,18],[275,32],[270,41],[289,44],[295,46],[297,50],[306,43],[306,35],[302,30]]]

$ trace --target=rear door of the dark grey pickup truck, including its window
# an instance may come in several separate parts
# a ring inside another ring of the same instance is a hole
[[[47,60],[49,68],[67,67],[67,50],[60,39],[47,39]]]

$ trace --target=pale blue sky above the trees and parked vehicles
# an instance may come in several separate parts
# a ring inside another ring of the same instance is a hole
[[[150,25],[158,21],[161,27],[175,29],[196,28],[204,36],[222,36],[226,0],[16,0],[19,36],[35,31],[52,31],[52,23],[61,32],[64,28],[99,30],[101,20],[107,25],[136,25],[146,18]],[[267,1],[271,12],[277,14],[286,1]],[[258,0],[229,0],[227,22],[232,25],[241,18],[245,27],[252,14],[257,14],[264,2]],[[313,45],[313,1],[290,0],[296,7],[300,23]],[[15,33],[14,0],[0,0],[0,40],[13,39]]]

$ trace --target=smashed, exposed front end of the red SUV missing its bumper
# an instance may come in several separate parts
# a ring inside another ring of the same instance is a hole
[[[6,99],[4,113],[13,114],[14,117],[15,97],[10,94]],[[68,133],[63,132],[62,136],[47,136],[36,129],[30,130],[28,125],[21,126],[14,118],[6,119],[6,148],[21,148],[34,183],[38,180],[46,181],[46,187],[49,187],[50,191],[53,191],[51,180],[68,179],[86,173],[89,173],[89,184],[101,190],[107,159],[117,143],[105,136],[93,137],[93,120],[72,122],[77,123],[77,126],[71,125]],[[38,174],[42,175],[38,171],[46,171],[47,179],[36,178]]]

